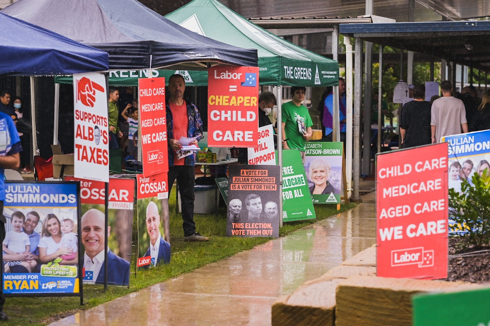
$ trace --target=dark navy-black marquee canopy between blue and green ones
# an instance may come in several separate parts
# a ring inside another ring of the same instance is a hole
[[[2,13],[109,53],[109,69],[257,66],[257,50],[221,43],[136,0],[18,0]]]

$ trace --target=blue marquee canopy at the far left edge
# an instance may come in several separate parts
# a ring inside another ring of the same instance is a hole
[[[109,69],[108,54],[0,13],[0,75],[59,75]]]

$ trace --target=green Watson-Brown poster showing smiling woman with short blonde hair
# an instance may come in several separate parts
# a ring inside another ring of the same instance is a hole
[[[305,170],[314,203],[340,204],[342,188],[341,142],[307,142]]]

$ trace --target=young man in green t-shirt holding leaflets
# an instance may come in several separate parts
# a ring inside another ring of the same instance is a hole
[[[282,105],[282,146],[283,149],[298,148],[303,163],[306,141],[313,134],[310,113],[301,105],[305,99],[306,87],[291,87],[293,100]]]

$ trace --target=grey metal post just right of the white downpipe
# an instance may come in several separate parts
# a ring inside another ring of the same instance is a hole
[[[356,52],[354,53],[354,199],[359,199],[359,176],[361,174],[361,93],[362,93],[362,54],[363,41],[355,39]]]

